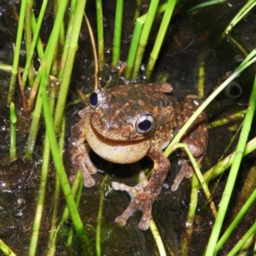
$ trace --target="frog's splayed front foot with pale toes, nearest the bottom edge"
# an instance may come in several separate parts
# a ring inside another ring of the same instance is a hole
[[[142,183],[135,187],[129,187],[124,183],[113,182],[112,186],[115,190],[126,191],[129,195],[131,195],[131,203],[129,207],[127,207],[125,212],[115,219],[115,222],[124,226],[126,224],[126,220],[131,217],[133,212],[141,210],[143,212],[143,217],[141,218],[138,227],[140,230],[148,230],[152,204],[157,195],[147,191],[147,187]]]

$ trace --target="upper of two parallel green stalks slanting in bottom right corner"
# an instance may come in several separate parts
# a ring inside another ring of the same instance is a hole
[[[229,239],[232,231],[236,229],[237,224],[239,224],[241,218],[244,217],[249,208],[253,205],[254,201],[256,201],[256,189],[254,189],[252,195],[249,196],[246,203],[243,205],[243,207],[241,207],[241,210],[238,212],[238,214],[236,214],[236,218],[234,218],[227,230],[225,230],[224,235],[218,240],[215,247],[215,253],[218,253],[219,249],[223,247],[225,241]]]

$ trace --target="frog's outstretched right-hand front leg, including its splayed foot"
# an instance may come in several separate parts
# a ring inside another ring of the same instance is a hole
[[[133,212],[141,210],[143,216],[138,225],[141,230],[148,230],[152,204],[157,195],[159,195],[166,174],[170,168],[170,161],[166,158],[160,148],[152,146],[147,155],[154,161],[154,170],[148,183],[140,183],[133,188],[122,183],[112,184],[113,189],[125,190],[129,194],[135,195],[131,199],[129,207],[127,207],[125,212],[116,218],[115,221],[121,225],[125,225],[126,220],[133,214]]]

